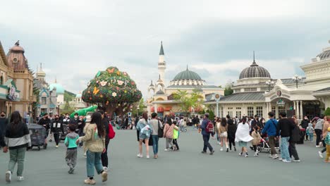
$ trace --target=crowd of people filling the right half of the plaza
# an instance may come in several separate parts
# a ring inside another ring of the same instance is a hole
[[[142,158],[142,144],[145,143],[146,157],[149,159],[149,146],[154,149],[154,159],[158,158],[159,137],[164,137],[166,142],[165,151],[177,151],[178,132],[185,128],[185,118],[167,116],[157,118],[157,113],[152,113],[151,119],[147,113],[138,120],[137,134],[139,142],[138,157]],[[164,124],[163,124],[164,122]],[[182,123],[183,122],[183,123]],[[319,156],[323,158],[322,153],[327,151],[325,162],[330,162],[330,116],[308,120],[305,116],[301,123],[298,119],[287,117],[285,112],[279,113],[279,119],[275,118],[273,112],[268,113],[268,120],[265,118],[243,117],[238,119],[226,116],[226,118],[209,118],[205,113],[204,117],[195,116],[192,118],[194,128],[202,134],[203,148],[202,154],[214,154],[214,147],[210,144],[210,138],[216,138],[220,145],[220,151],[237,151],[236,144],[240,147],[239,156],[248,157],[247,144],[251,144],[250,149],[254,151],[254,156],[259,156],[261,149],[269,151],[269,158],[279,159],[285,163],[300,162],[298,151],[295,144],[301,141],[312,141],[314,134],[317,136],[316,147],[324,147],[319,151]],[[313,124],[314,123],[314,124]],[[181,128],[181,126],[183,126]],[[303,143],[303,142],[302,142]]]

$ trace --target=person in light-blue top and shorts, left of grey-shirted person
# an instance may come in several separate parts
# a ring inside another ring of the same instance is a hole
[[[139,158],[143,158],[142,155],[142,142],[145,142],[145,149],[147,152],[147,159],[149,159],[149,138],[152,135],[152,125],[148,123],[148,115],[147,113],[142,114],[142,118],[139,120],[138,125],[136,126],[136,130],[138,131],[139,138]]]

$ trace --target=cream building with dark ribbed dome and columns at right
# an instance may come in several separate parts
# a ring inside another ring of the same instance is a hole
[[[279,117],[281,111],[298,118],[320,116],[330,107],[330,47],[301,66],[306,77],[272,79],[268,70],[258,66],[255,59],[245,68],[233,85],[234,93],[221,97],[220,116],[267,117],[269,111]],[[216,101],[208,97],[205,104],[214,111]]]

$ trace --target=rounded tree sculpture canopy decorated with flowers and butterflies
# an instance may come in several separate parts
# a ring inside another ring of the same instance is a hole
[[[82,92],[83,101],[97,104],[111,116],[114,113],[116,116],[123,116],[141,98],[140,90],[128,73],[112,66],[99,71]]]

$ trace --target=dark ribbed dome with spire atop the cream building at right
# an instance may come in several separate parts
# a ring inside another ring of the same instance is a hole
[[[261,66],[258,66],[255,61],[253,61],[250,67],[247,67],[242,70],[240,73],[240,79],[252,78],[252,77],[271,77],[268,70]]]

